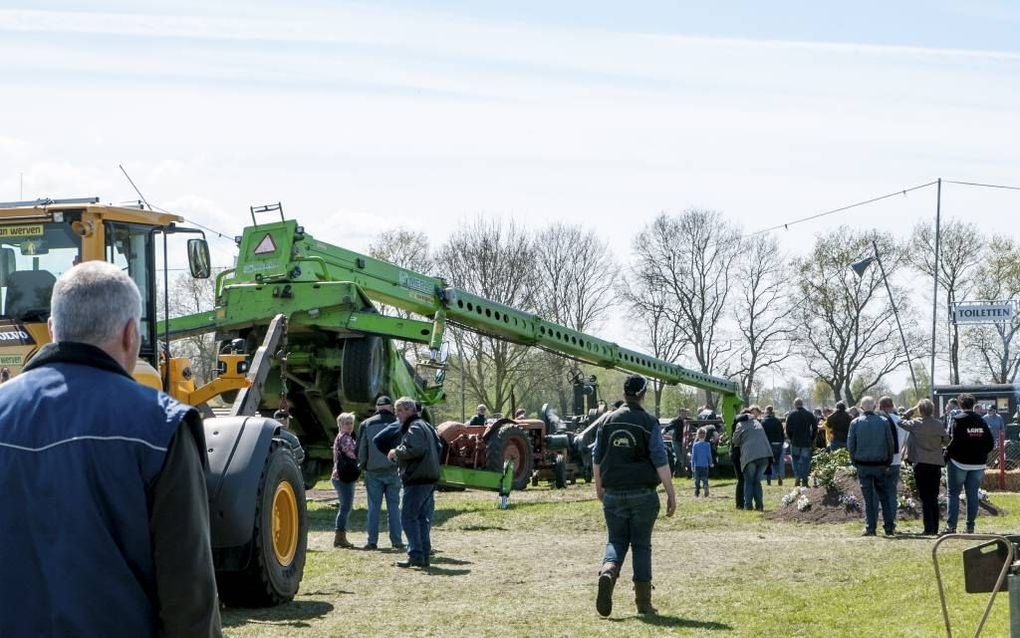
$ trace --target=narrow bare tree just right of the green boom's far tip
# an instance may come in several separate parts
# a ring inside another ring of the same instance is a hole
[[[793,355],[790,315],[796,303],[779,242],[766,237],[749,243],[736,260],[736,279],[741,294],[734,310],[743,337],[736,377],[744,401],[750,403],[758,373]]]

